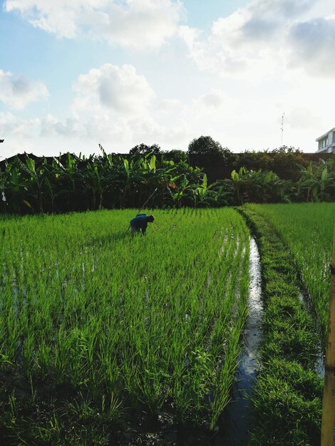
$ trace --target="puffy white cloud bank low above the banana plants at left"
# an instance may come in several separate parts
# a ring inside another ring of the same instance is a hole
[[[123,86],[118,90],[121,81]],[[101,97],[104,82],[114,83],[107,88],[113,94],[106,98]],[[16,152],[33,150],[36,155],[57,155],[66,150],[88,154],[98,149],[99,142],[106,150],[118,152],[128,152],[140,142],[156,142],[164,150],[186,150],[195,134],[207,135],[214,130],[225,105],[220,90],[210,90],[190,103],[167,98],[155,104],[150,101],[153,90],[131,66],[105,65],[91,70],[79,76],[74,91],[76,97],[67,118],[48,114],[21,120],[11,113],[0,115],[6,147],[16,147]],[[206,121],[213,111],[209,128]]]

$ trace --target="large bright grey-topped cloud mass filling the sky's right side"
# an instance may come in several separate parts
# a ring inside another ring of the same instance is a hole
[[[192,128],[234,151],[274,148],[284,111],[284,144],[316,150],[315,138],[334,127],[335,17],[327,5],[254,0],[208,33],[180,27],[202,76],[225,89],[215,113],[201,110],[203,98],[192,104]]]

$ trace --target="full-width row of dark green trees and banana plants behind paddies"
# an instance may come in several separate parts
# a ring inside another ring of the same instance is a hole
[[[215,177],[214,177],[215,175]],[[187,152],[137,145],[128,154],[16,155],[0,162],[0,212],[14,214],[244,202],[334,201],[335,156],[306,161],[294,147],[234,154],[209,136]]]

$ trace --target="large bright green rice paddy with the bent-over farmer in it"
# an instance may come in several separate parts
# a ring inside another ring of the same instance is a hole
[[[138,413],[217,425],[249,230],[229,208],[154,214],[145,237],[125,234],[131,209],[1,217],[1,429],[15,444],[107,444]]]

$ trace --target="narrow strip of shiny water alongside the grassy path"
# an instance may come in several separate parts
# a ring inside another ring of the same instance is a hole
[[[261,341],[262,323],[262,290],[260,259],[257,244],[250,239],[250,285],[249,285],[249,317],[244,328],[243,351],[237,361],[237,381],[233,387],[230,404],[230,430],[227,432],[225,446],[242,446],[247,444],[250,426],[249,395],[257,373],[257,350]]]

